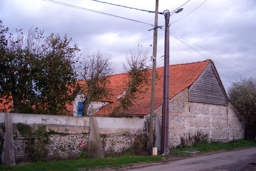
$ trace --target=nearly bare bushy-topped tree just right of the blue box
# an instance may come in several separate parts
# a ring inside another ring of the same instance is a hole
[[[109,83],[107,77],[114,73],[111,56],[98,49],[93,54],[85,52],[82,61],[78,66],[80,79],[84,79],[86,84],[82,85],[81,90],[85,94],[83,116],[88,116],[88,108],[92,100],[102,100],[109,96],[106,84]]]

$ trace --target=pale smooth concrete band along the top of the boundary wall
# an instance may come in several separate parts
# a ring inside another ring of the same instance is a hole
[[[39,115],[39,114],[16,114],[11,115],[12,123],[24,123],[27,125],[58,125],[58,126],[86,126],[89,127],[89,117]],[[108,118],[96,117],[100,129],[145,129],[144,119],[136,118]],[[0,113],[0,123],[4,123],[4,113]]]

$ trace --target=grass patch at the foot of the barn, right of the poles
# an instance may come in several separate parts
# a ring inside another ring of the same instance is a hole
[[[192,146],[177,146],[175,149],[170,149],[170,156],[188,156],[190,153],[185,151],[194,150],[200,152],[211,152],[220,150],[233,150],[235,148],[256,146],[255,140],[234,140],[228,143],[212,142],[194,144]]]

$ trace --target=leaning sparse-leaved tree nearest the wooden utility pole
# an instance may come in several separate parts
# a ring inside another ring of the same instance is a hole
[[[120,103],[115,107],[110,114],[111,117],[120,117],[120,112],[128,110],[129,107],[133,106],[133,101],[138,99],[136,93],[145,93],[147,89],[143,89],[149,84],[149,67],[147,64],[150,45],[146,50],[142,50],[142,46],[138,44],[136,52],[126,52],[125,62],[122,62],[124,70],[128,73],[129,81],[126,82],[127,91],[125,95],[119,99]]]

